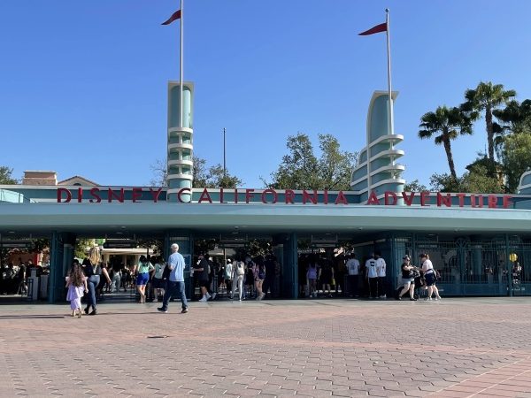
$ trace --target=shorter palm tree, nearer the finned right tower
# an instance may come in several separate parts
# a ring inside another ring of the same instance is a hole
[[[472,119],[457,107],[447,108],[439,106],[435,112],[427,112],[420,118],[422,130],[419,131],[421,139],[431,138],[434,134],[435,144],[444,145],[444,151],[450,166],[450,175],[454,180],[458,179],[456,167],[451,154],[451,140],[455,140],[459,135],[472,134]]]

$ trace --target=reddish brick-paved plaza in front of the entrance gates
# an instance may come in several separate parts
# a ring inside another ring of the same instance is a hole
[[[531,297],[0,307],[0,396],[531,397]]]

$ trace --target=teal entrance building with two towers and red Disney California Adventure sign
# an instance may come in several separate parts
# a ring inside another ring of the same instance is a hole
[[[0,246],[50,239],[50,302],[64,300],[65,272],[80,236],[157,237],[166,249],[179,243],[188,263],[199,239],[227,246],[267,239],[281,263],[285,298],[298,296],[302,241],[316,248],[348,243],[358,258],[380,251],[389,292],[398,283],[402,257],[427,252],[445,295],[531,293],[529,173],[519,195],[404,192],[404,166],[397,163],[404,151],[396,149],[404,136],[387,134],[387,95],[376,92],[350,191],[191,188],[193,86],[183,90],[183,126],[175,125],[178,88],[168,86],[167,187],[103,187],[77,176],[58,185],[55,175],[53,184],[0,186]]]

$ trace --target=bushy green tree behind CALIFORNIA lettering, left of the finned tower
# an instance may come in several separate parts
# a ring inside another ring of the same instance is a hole
[[[350,173],[358,158],[357,153],[341,151],[332,134],[319,134],[319,158],[307,134],[290,135],[286,143],[289,153],[282,157],[281,165],[271,174],[276,189],[350,189]],[[262,179],[263,180],[263,179]]]

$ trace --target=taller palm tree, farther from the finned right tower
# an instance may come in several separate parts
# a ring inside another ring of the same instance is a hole
[[[485,111],[485,122],[487,125],[487,142],[489,142],[489,159],[494,162],[494,134],[495,129],[492,123],[492,113],[505,103],[508,103],[516,96],[516,91],[505,90],[503,84],[492,84],[491,81],[478,84],[475,89],[465,92],[466,102],[461,105],[463,111],[470,112],[471,119],[476,119],[479,112]],[[475,115],[472,114],[476,111]]]

